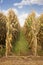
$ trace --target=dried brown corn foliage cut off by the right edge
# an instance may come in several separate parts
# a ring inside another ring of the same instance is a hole
[[[39,20],[41,22],[41,26],[38,33],[38,43],[42,46],[43,49],[43,14],[40,15]]]

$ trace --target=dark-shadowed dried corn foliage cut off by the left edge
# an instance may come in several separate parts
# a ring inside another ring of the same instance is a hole
[[[0,45],[5,45],[7,33],[7,18],[0,12]]]

